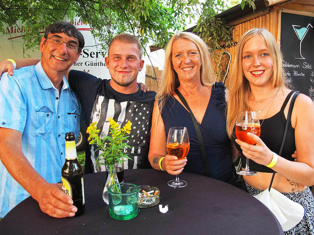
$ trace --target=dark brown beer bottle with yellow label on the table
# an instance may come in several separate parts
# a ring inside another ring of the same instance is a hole
[[[65,134],[65,163],[61,169],[62,190],[73,200],[78,208],[75,216],[85,211],[83,169],[78,163],[73,132]]]

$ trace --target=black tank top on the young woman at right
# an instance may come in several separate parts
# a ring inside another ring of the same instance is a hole
[[[263,122],[263,125],[261,126],[260,138],[263,140],[263,142],[271,151],[277,154],[279,154],[279,151],[280,151],[282,139],[284,137],[284,129],[286,126],[286,121],[287,121],[287,119],[284,116],[284,108],[286,107],[291,95],[294,92],[295,91],[291,91],[288,94],[287,98],[284,101],[284,104],[282,105],[280,111],[277,114],[273,115],[270,118],[260,120],[261,124]],[[242,154],[242,149],[240,148],[240,145],[238,145],[235,142],[236,133],[235,133],[235,130],[233,131],[234,133],[232,135],[232,140],[236,148],[240,151],[242,167],[245,168],[246,157]],[[289,120],[286,140],[284,142],[284,147],[280,155],[281,157],[289,161],[294,161],[294,158],[292,158],[291,155],[296,150],[294,132],[295,130],[291,126],[291,120]],[[250,166],[250,170],[253,170],[253,171],[273,173],[273,170],[271,168],[268,168],[264,165],[257,164],[251,159],[249,159],[249,166]]]

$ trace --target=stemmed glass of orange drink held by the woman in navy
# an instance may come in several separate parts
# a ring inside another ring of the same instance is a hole
[[[167,152],[169,155],[176,156],[178,160],[185,158],[190,149],[189,135],[186,127],[171,127],[167,137]],[[168,185],[174,188],[187,186],[187,182],[179,179],[176,175],[175,180],[170,180]]]

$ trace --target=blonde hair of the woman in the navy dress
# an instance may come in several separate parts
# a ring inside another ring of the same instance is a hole
[[[158,102],[160,113],[165,104],[166,98],[170,97],[174,93],[176,88],[180,86],[178,74],[173,69],[173,64],[171,60],[172,44],[179,39],[190,40],[198,48],[202,62],[200,68],[201,84],[203,86],[212,86],[212,84],[215,82],[211,57],[206,43],[199,36],[189,32],[181,32],[173,35],[166,47],[164,70],[162,73],[160,88],[156,94],[156,101]]]

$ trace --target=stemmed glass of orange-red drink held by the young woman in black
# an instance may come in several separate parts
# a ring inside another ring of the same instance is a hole
[[[258,115],[256,111],[239,112],[238,119],[236,121],[236,138],[248,144],[255,145],[256,142],[252,140],[246,133],[252,133],[256,136],[261,134],[261,125],[259,123]],[[239,175],[256,175],[256,171],[251,171],[249,168],[249,160],[246,158],[246,165],[244,170],[236,172]]]

